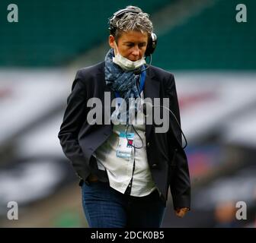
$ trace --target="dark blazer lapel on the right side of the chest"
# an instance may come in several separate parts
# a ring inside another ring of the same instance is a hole
[[[154,102],[154,98],[159,98],[159,82],[155,79],[155,75],[152,73],[152,70],[149,68],[146,72],[146,80],[144,87],[144,98],[152,99],[152,103]],[[152,109],[153,112],[153,109]],[[153,119],[153,116],[152,116]],[[152,131],[152,123],[153,121],[147,121],[146,118],[146,140],[149,139],[149,135]],[[149,124],[148,124],[149,123]]]

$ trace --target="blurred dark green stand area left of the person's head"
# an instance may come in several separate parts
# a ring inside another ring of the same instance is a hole
[[[152,13],[168,3],[170,0],[148,0],[143,10]],[[141,2],[18,0],[18,23],[6,21],[8,4],[1,1],[0,66],[51,67],[66,65],[104,42],[107,18],[113,10]]]

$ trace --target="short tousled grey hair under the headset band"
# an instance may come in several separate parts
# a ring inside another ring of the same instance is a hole
[[[150,36],[153,32],[153,24],[149,20],[149,14],[142,12],[141,8],[135,6],[127,6],[126,9],[139,11],[139,13],[128,12],[120,18],[115,17],[112,21],[112,26],[115,28],[114,37],[118,39],[123,31],[130,30],[137,30],[141,33],[146,32]]]

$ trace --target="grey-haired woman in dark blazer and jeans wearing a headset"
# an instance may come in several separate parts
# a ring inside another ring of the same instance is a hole
[[[169,187],[177,216],[190,210],[174,76],[145,62],[156,46],[152,30],[149,14],[140,8],[117,11],[110,18],[111,49],[104,62],[79,70],[72,85],[59,140],[81,178],[90,227],[160,227]],[[159,108],[164,98],[171,112],[162,121],[168,121],[167,131],[159,132],[143,103],[158,99],[151,108]],[[103,124],[91,99],[101,101]]]

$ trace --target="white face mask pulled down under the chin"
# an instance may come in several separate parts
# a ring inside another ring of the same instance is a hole
[[[116,48],[117,44],[115,42]],[[123,70],[131,71],[134,69],[137,69],[141,67],[142,65],[146,64],[145,58],[141,58],[135,62],[130,61],[129,59],[123,57],[123,55],[120,55],[117,49],[117,55],[113,58],[113,62],[120,66],[120,68],[123,68]]]

